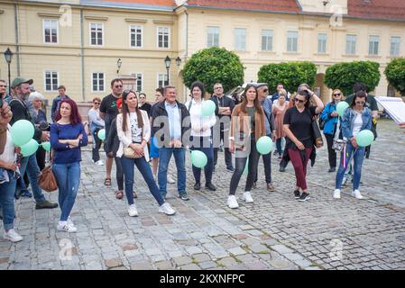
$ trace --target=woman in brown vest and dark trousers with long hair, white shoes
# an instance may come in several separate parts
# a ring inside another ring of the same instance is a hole
[[[260,154],[256,141],[266,136],[264,112],[257,96],[255,85],[248,84],[244,89],[243,102],[237,104],[232,112],[229,150],[235,152],[235,171],[229,185],[227,205],[231,209],[239,207],[236,201],[236,188],[248,162],[246,184],[244,186],[244,201],[253,202],[250,191],[257,173]]]

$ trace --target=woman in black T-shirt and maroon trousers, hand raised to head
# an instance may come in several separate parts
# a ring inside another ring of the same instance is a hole
[[[304,202],[310,198],[306,179],[307,165],[315,149],[312,120],[315,115],[322,112],[324,103],[309,90],[308,85],[299,85],[298,90],[294,97],[295,106],[285,112],[283,129],[287,135],[285,149],[288,149],[297,179],[294,196],[299,202]],[[309,106],[311,98],[317,106]]]

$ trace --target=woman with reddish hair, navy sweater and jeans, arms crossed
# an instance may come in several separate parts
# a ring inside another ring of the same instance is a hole
[[[60,110],[51,125],[51,147],[55,150],[52,171],[58,182],[60,221],[58,229],[76,232],[70,211],[80,183],[80,147],[87,145],[87,133],[81,123],[78,106],[71,99],[60,101]]]

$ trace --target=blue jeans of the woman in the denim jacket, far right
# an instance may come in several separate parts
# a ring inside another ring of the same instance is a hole
[[[364,147],[358,147],[356,150],[354,149],[353,145],[350,142],[346,144],[347,150],[347,158],[352,157],[354,160],[354,175],[353,175],[353,190],[359,189],[360,186],[360,178],[362,176],[362,166],[364,160]],[[353,155],[352,155],[353,154]],[[335,188],[340,189],[342,186],[343,177],[345,175],[345,167],[342,163],[343,152],[340,153],[340,164],[339,169],[336,173],[336,184]],[[350,165],[350,162],[347,164]]]

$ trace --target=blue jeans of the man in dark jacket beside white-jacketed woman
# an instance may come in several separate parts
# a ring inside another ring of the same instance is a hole
[[[165,197],[167,193],[168,166],[171,154],[174,155],[177,166],[177,190],[179,196],[186,193],[186,149],[162,147],[159,149],[158,182],[163,197]]]

